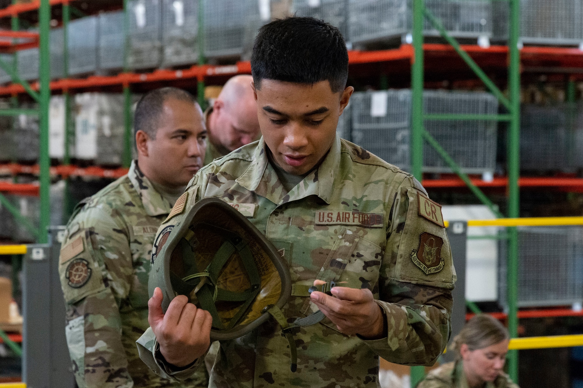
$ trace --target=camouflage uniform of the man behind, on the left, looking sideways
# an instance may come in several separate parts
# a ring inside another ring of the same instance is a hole
[[[128,175],[83,200],[59,258],[66,338],[79,388],[206,387],[205,368],[182,384],[139,359],[147,329],[147,280],[156,230],[171,205],[134,161]]]

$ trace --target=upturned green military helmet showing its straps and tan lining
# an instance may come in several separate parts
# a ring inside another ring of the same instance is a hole
[[[166,312],[177,295],[213,318],[211,340],[230,340],[269,319],[291,296],[287,264],[238,210],[217,198],[196,202],[156,238],[148,282],[160,287]]]

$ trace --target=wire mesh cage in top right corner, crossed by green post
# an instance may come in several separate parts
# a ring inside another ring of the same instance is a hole
[[[508,39],[508,2],[494,2],[495,36]],[[527,44],[580,45],[583,43],[582,0],[521,0],[520,40]]]

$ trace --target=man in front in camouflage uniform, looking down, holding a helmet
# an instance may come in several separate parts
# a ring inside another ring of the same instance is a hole
[[[380,357],[433,364],[451,331],[455,281],[441,208],[410,174],[336,135],[354,90],[340,31],[304,17],[268,23],[251,66],[263,137],[202,168],[158,234],[197,201],[219,198],[289,263],[287,322],[318,309],[326,318],[293,328],[295,371],[274,319],[220,341],[209,387],[378,387]],[[310,294],[319,281],[340,287]],[[181,381],[204,359],[212,318],[184,295],[166,313],[162,300],[154,290],[138,351]]]

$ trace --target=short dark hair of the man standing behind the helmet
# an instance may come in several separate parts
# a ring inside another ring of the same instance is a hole
[[[136,112],[134,113],[134,136],[138,130],[143,130],[150,136],[150,139],[156,139],[164,102],[169,98],[175,98],[185,103],[198,104],[192,94],[177,87],[162,87],[152,90],[141,98],[136,107]]]

